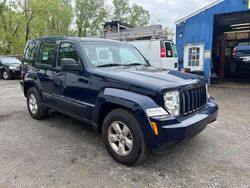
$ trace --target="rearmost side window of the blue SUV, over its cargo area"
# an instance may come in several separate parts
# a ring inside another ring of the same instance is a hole
[[[34,41],[28,42],[23,57],[25,64],[33,64],[35,62],[36,44],[37,42]]]

